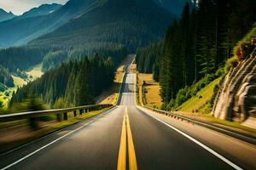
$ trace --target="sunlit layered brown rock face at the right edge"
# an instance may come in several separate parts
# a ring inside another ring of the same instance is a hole
[[[256,116],[255,50],[224,78],[212,110],[215,117],[244,122]]]

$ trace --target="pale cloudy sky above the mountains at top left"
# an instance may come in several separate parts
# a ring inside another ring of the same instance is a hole
[[[38,7],[44,3],[67,3],[68,0],[0,0],[0,8],[14,14],[23,14],[27,10]]]

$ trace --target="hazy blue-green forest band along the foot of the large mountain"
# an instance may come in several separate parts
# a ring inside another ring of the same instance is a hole
[[[29,70],[32,66],[43,62],[43,71],[47,71],[49,68],[59,66],[63,61],[82,59],[84,56],[94,54],[104,58],[112,57],[113,62],[118,63],[126,56],[127,49],[112,42],[95,43],[93,47],[80,45],[56,48],[51,45],[45,47],[26,45],[0,49],[0,65],[4,65],[10,72],[17,73],[17,71]]]

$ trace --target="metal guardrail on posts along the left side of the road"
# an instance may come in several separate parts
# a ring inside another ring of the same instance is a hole
[[[61,121],[61,115],[63,115],[63,120],[67,120],[67,113],[73,112],[74,116],[77,116],[77,111],[79,111],[79,115],[82,115],[84,112],[101,110],[103,108],[107,108],[113,105],[84,105],[79,107],[67,108],[67,109],[55,109],[55,110],[45,110],[45,111],[28,111],[7,115],[0,115],[0,122],[10,122],[22,119],[29,119],[40,116],[49,116],[49,115],[57,115],[58,120]]]

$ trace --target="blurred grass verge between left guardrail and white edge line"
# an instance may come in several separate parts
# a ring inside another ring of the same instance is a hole
[[[68,113],[68,120],[67,121],[63,121],[63,122],[48,122],[48,124],[45,125],[44,123],[44,127],[38,129],[37,131],[30,131],[28,134],[27,132],[26,135],[24,135],[23,138],[11,138],[13,140],[9,141],[8,139],[10,139],[10,137],[6,137],[6,136],[1,136],[1,139],[0,139],[0,152],[4,152],[6,150],[10,150],[12,148],[15,148],[21,144],[26,144],[34,139],[38,139],[40,137],[43,137],[44,135],[47,135],[49,133],[53,133],[55,132],[56,130],[59,130],[61,128],[64,128],[64,127],[68,127],[68,126],[71,126],[77,122],[81,122],[85,119],[88,119],[92,116],[96,116],[100,113],[102,113],[103,111],[107,111],[109,108],[105,108],[105,109],[102,109],[102,110],[99,110],[99,111],[90,111],[88,113],[84,113],[83,115],[79,115],[79,112],[77,111],[77,115],[76,117],[73,116],[73,112],[69,112]],[[55,117],[55,116],[54,116]],[[22,122],[20,124],[20,122]],[[18,122],[9,122],[9,123],[4,123],[5,126],[3,126],[3,123],[1,123],[1,127],[11,127],[11,126],[15,126],[15,128],[17,129],[22,129],[20,127],[24,127],[24,126],[27,126],[27,122],[26,120],[22,120],[22,121],[18,121]],[[8,124],[8,126],[7,126]],[[11,130],[10,130],[11,131]],[[19,133],[24,133],[22,132],[22,130],[20,130]],[[12,135],[11,132],[9,132],[9,135]],[[15,135],[15,134],[13,134]],[[4,138],[7,138],[7,141],[4,140]]]

